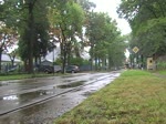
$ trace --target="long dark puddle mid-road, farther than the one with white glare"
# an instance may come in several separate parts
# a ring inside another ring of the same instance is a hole
[[[85,82],[86,81],[79,81],[79,82],[73,82],[73,83],[69,83],[69,84],[58,85],[56,87],[60,87],[60,89],[76,87],[76,86],[83,85]]]

